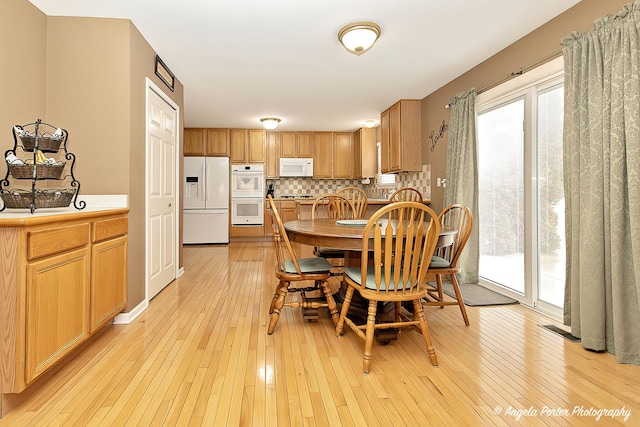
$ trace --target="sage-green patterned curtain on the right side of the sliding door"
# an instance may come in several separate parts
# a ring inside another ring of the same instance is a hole
[[[565,323],[640,364],[640,0],[562,40]]]

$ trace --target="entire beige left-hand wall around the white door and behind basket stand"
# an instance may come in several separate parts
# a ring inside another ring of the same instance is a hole
[[[180,109],[180,156],[182,83],[164,87],[155,51],[129,20],[47,17],[27,0],[2,0],[0,36],[11,64],[0,67],[4,150],[14,124],[42,118],[69,132],[81,194],[129,196],[129,311],[145,296],[146,77]]]

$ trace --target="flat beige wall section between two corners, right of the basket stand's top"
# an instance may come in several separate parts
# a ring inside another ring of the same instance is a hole
[[[49,17],[47,120],[67,129],[80,194],[129,194],[129,21]]]

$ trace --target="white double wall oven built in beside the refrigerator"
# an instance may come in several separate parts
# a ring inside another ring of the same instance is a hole
[[[231,224],[264,223],[263,165],[231,166]]]

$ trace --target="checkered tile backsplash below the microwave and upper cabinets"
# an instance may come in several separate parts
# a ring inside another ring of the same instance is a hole
[[[343,187],[360,187],[370,197],[391,195],[393,189],[380,189],[375,182],[362,184],[359,179],[313,179],[313,178],[280,178],[267,179],[267,186],[273,184],[276,197],[279,196],[312,196],[335,193]],[[425,200],[431,200],[431,165],[422,165],[420,172],[403,172],[396,174],[396,188],[413,187],[422,193]],[[386,197],[385,197],[386,198]]]

